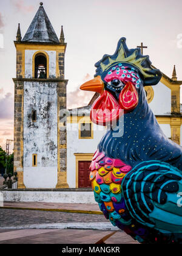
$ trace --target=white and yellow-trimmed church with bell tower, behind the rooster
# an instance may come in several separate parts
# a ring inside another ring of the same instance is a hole
[[[68,80],[64,79],[64,32],[58,39],[42,2],[24,38],[18,26],[15,82],[14,171],[18,188],[90,188],[89,165],[103,126],[90,121],[87,106],[66,109]],[[161,70],[162,71],[162,70]],[[180,85],[174,66],[172,78],[145,87],[147,101],[168,138],[182,145]]]

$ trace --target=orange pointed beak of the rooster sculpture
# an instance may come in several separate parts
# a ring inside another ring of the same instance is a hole
[[[104,90],[104,83],[100,76],[96,76],[94,79],[81,85],[80,89],[84,91],[96,91],[101,94]]]

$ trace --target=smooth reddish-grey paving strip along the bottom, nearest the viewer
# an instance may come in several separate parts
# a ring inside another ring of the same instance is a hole
[[[109,235],[103,230],[0,230],[0,244],[95,244]],[[118,231],[106,244],[138,244],[126,233]],[[121,251],[120,251],[121,252]]]

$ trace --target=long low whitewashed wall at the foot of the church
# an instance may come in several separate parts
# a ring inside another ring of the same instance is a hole
[[[95,204],[92,191],[25,191],[2,190],[7,202],[55,202],[65,204]]]

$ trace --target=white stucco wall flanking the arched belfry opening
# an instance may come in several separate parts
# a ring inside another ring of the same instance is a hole
[[[44,50],[42,50],[44,51]],[[35,50],[25,50],[25,78],[32,78],[33,54]],[[49,55],[49,77],[56,77],[56,51],[45,51]]]

